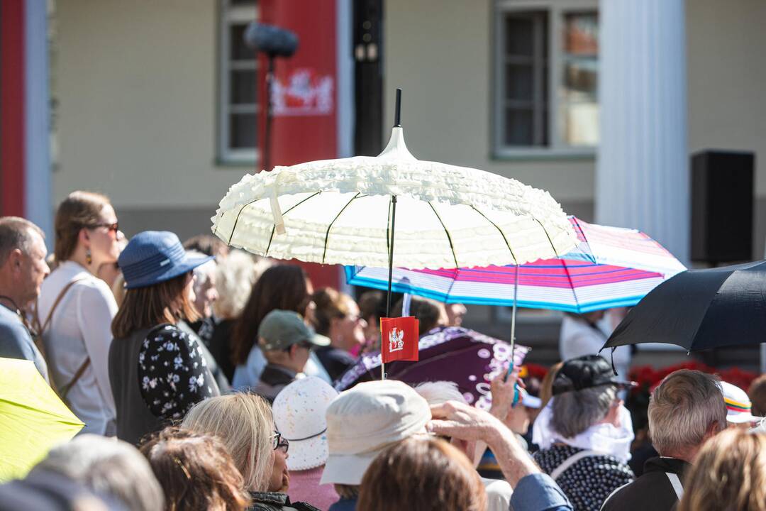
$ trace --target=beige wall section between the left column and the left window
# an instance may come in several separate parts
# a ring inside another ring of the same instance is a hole
[[[198,208],[209,217],[251,172],[214,165],[217,5],[57,1],[54,201],[87,188],[110,195],[118,214]]]

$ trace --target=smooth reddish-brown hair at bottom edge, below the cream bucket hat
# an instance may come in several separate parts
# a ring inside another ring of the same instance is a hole
[[[359,511],[483,511],[479,474],[460,450],[443,440],[409,438],[384,450],[365,472]]]

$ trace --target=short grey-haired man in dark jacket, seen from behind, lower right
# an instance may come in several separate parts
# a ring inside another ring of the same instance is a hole
[[[618,488],[602,511],[674,509],[683,496],[683,475],[710,437],[726,427],[719,378],[680,369],[666,376],[649,401],[649,431],[660,457],[647,460],[637,480]]]

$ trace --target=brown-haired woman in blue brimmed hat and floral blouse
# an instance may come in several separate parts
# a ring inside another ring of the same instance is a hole
[[[211,257],[189,257],[178,236],[144,231],[119,255],[125,299],[112,322],[109,377],[117,437],[138,444],[221,391],[195,338],[178,327],[195,319],[192,270]]]

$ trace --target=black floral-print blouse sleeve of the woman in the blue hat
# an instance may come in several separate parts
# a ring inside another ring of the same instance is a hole
[[[149,411],[181,419],[199,401],[216,393],[195,339],[172,325],[149,332],[139,352],[139,385]]]

